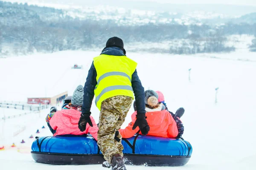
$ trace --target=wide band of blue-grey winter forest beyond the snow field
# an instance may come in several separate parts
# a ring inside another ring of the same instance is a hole
[[[0,55],[102,48],[113,36],[121,37],[126,44],[182,40],[179,45],[161,51],[172,54],[230,52],[235,48],[225,45],[227,35],[256,35],[256,24],[246,23],[219,27],[177,23],[123,26],[114,20],[63,17],[61,10],[27,4],[0,1],[0,10]],[[254,40],[250,48],[255,48],[255,44]],[[154,47],[151,50],[155,51]]]

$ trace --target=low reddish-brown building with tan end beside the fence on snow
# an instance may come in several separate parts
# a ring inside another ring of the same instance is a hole
[[[32,97],[28,98],[28,104],[41,104],[41,105],[57,105],[64,102],[67,97],[67,91],[53,97]]]

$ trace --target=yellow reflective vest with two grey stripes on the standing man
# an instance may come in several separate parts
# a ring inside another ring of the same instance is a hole
[[[134,99],[131,75],[137,67],[137,62],[126,56],[101,54],[93,58],[93,64],[97,72],[95,104],[99,110],[101,103],[113,96],[131,96]]]

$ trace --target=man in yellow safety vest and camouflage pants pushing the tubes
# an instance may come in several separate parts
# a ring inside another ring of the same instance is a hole
[[[111,164],[112,170],[117,168],[126,170],[122,153],[122,136],[118,130],[125,121],[134,96],[137,120],[133,128],[139,126],[144,135],[149,131],[145,119],[144,88],[137,75],[137,63],[125,54],[122,39],[111,37],[102,53],[93,58],[84,85],[82,113],[78,123],[81,131],[89,125],[93,126],[90,120],[90,108],[95,95],[95,104],[100,110],[97,143],[105,160]]]

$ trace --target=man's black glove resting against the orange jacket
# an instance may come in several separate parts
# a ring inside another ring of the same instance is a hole
[[[148,126],[148,122],[146,120],[145,113],[137,114],[136,117],[137,117],[137,119],[132,127],[132,130],[136,129],[136,127],[139,126],[140,131],[143,135],[148,134],[148,131],[150,128]]]

